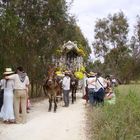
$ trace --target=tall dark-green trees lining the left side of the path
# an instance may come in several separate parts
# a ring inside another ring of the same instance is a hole
[[[0,5],[0,75],[5,67],[22,65],[31,81],[31,95],[41,95],[43,76],[64,41],[88,42],[68,14],[65,0],[12,0]],[[37,88],[38,87],[38,88]]]

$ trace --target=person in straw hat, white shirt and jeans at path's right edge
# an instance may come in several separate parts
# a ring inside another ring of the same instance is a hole
[[[93,106],[94,105],[94,93],[96,88],[96,73],[90,72],[87,78],[87,88],[88,88],[88,98],[89,103]]]

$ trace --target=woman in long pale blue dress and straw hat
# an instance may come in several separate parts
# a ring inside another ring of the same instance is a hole
[[[11,68],[6,68],[3,73],[4,76],[10,76],[14,72]],[[2,79],[1,86],[4,89],[4,100],[3,106],[0,112],[0,118],[3,119],[4,123],[14,123],[14,108],[13,108],[13,89],[14,81],[10,79]]]

